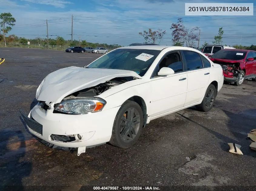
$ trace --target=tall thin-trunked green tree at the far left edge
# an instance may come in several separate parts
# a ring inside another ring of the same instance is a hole
[[[4,36],[4,40],[5,40],[5,34],[7,34],[10,30],[12,30],[12,27],[10,26],[14,26],[16,20],[14,17],[12,17],[11,13],[1,13],[0,14],[0,19],[2,20],[0,25],[2,27],[2,31],[3,31],[3,36]],[[6,26],[9,25],[9,26]],[[5,41],[5,47],[6,47],[6,41]]]

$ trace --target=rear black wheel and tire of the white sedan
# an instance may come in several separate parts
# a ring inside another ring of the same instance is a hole
[[[213,94],[211,93],[213,91]],[[213,97],[214,96],[214,97]],[[217,90],[213,84],[210,84],[204,94],[204,99],[202,103],[196,105],[199,111],[207,112],[211,110],[217,96]]]

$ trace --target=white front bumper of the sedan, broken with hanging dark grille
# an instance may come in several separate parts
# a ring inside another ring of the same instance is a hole
[[[24,121],[29,132],[45,142],[65,148],[91,147],[110,140],[119,108],[115,107],[84,115],[70,115],[53,113],[53,109],[44,110],[38,103],[30,111],[28,117],[24,115],[22,117],[23,119],[27,118]],[[81,139],[78,138],[78,134]],[[57,141],[52,135],[74,135],[75,140],[71,142]]]

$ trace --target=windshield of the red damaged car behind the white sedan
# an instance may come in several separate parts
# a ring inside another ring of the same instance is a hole
[[[219,50],[211,56],[211,58],[228,59],[228,60],[242,60],[246,55],[246,51],[232,51],[232,50]]]

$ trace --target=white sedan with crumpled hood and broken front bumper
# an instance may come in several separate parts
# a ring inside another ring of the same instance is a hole
[[[78,155],[106,142],[128,148],[153,119],[191,106],[209,111],[222,85],[221,66],[196,49],[127,46],[47,75],[22,117],[52,148]]]

